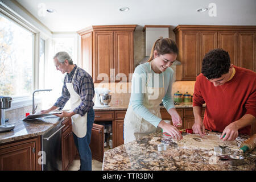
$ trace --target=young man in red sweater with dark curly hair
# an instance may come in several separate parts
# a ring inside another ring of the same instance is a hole
[[[222,132],[224,141],[235,140],[238,133],[250,134],[250,125],[256,121],[256,73],[230,64],[229,54],[223,49],[208,52],[202,73],[196,77],[193,113],[192,129],[201,136],[204,129]]]

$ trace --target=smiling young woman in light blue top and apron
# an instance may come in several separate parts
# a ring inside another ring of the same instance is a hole
[[[133,73],[132,90],[129,107],[124,121],[125,143],[154,133],[157,127],[162,128],[173,138],[182,138],[178,125],[181,118],[172,100],[172,76],[169,68],[176,60],[178,48],[169,38],[159,38],[151,49],[147,63],[138,65]],[[160,103],[172,117],[174,125],[161,119]]]

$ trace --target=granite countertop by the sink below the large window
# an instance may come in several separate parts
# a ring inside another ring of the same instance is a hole
[[[22,121],[23,118],[13,118],[6,122],[6,124],[13,124],[15,127],[12,131],[0,133],[0,144],[43,135],[58,125],[59,122],[66,119],[51,116],[48,118],[31,119],[31,121]]]

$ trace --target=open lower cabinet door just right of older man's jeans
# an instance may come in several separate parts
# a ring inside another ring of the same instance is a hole
[[[90,137],[90,150],[92,158],[100,162],[104,156],[104,126],[93,123],[92,136]]]

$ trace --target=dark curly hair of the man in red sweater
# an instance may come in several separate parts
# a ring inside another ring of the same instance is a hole
[[[230,57],[224,49],[213,49],[205,54],[202,64],[202,73],[209,80],[220,78],[229,72]]]

